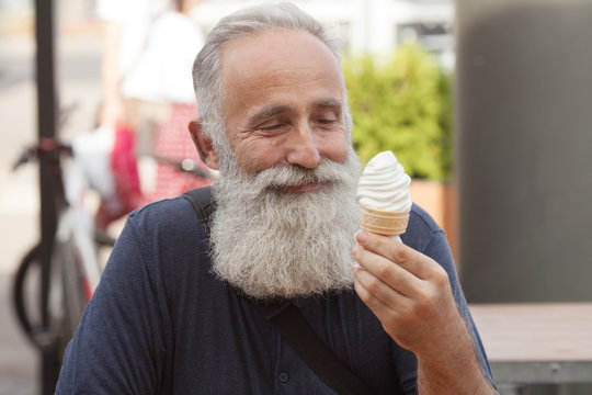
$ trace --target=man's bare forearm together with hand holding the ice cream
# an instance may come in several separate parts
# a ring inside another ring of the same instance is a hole
[[[355,291],[385,331],[418,358],[421,394],[493,394],[458,313],[446,271],[388,237],[362,232]]]

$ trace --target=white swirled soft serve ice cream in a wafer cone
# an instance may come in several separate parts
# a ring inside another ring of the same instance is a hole
[[[357,187],[362,228],[387,236],[403,234],[412,205],[410,183],[411,178],[391,151],[372,158]]]

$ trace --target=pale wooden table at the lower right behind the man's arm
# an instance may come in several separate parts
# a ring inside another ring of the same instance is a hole
[[[592,303],[469,308],[498,384],[592,383]]]

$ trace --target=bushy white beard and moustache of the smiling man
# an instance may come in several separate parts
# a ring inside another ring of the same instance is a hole
[[[255,298],[352,289],[360,176],[353,149],[344,163],[323,159],[312,170],[286,165],[253,177],[243,176],[235,158],[225,159],[213,188],[214,273]],[[326,184],[306,193],[282,189],[311,182]]]

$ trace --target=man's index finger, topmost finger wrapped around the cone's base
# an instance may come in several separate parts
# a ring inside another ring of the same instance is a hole
[[[356,235],[356,241],[365,249],[385,257],[422,280],[432,276],[434,264],[440,267],[423,253],[386,236],[361,232]]]

